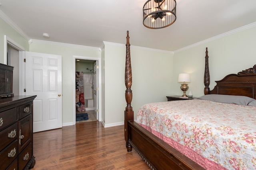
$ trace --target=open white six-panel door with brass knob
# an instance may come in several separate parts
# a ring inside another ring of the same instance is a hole
[[[62,127],[62,56],[23,52],[26,95],[33,102],[33,132]]]

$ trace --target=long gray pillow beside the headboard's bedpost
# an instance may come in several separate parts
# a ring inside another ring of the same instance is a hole
[[[199,99],[210,100],[213,102],[239,104],[244,106],[247,106],[252,101],[256,101],[255,99],[246,96],[233,96],[223,94],[207,94],[199,97]]]

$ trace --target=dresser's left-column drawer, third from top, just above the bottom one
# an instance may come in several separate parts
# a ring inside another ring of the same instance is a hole
[[[0,153],[0,167],[6,169],[18,155],[18,140],[15,140],[11,145]]]

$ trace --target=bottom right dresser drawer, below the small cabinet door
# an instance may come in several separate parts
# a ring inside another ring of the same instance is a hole
[[[30,143],[18,156],[19,168],[22,170],[32,156],[32,143]]]

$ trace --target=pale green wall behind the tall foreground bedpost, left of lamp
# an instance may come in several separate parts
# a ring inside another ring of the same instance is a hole
[[[132,44],[132,42],[130,42]],[[126,107],[124,70],[126,46],[105,43],[105,124],[123,123]],[[172,53],[130,47],[132,107],[134,115],[143,104],[167,101],[172,91]]]

